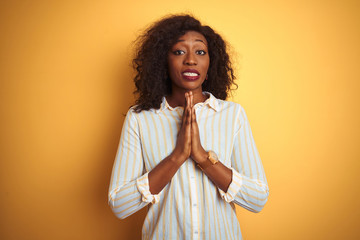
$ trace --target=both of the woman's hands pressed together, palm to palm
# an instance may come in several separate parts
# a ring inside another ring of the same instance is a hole
[[[197,163],[205,161],[207,158],[207,152],[200,142],[199,127],[194,108],[194,95],[191,91],[185,93],[184,113],[173,154],[181,161],[191,157]]]

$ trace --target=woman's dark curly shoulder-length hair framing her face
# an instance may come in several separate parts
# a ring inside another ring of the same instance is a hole
[[[226,43],[221,36],[190,15],[171,15],[155,22],[135,41],[134,93],[139,95],[135,102],[136,112],[159,109],[162,98],[171,94],[167,55],[176,40],[188,31],[201,33],[208,42],[210,65],[203,91],[225,100],[231,86],[237,87]]]

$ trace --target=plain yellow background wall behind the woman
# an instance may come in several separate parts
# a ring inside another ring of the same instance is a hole
[[[232,45],[269,182],[244,238],[360,238],[359,1],[29,0],[0,3],[0,239],[140,238],[107,206],[131,42],[184,11]]]

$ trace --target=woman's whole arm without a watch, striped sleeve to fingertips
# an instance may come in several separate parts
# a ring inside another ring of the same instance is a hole
[[[129,110],[120,139],[109,189],[109,205],[121,219],[147,204],[159,201],[159,193],[190,156],[191,109],[188,96],[176,146],[172,154],[150,172],[143,174],[139,127]]]

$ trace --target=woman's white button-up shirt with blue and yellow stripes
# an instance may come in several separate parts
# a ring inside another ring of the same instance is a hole
[[[175,148],[183,108],[165,97],[159,109],[135,113],[123,125],[113,166],[109,205],[121,219],[148,206],[142,239],[242,239],[235,205],[259,212],[269,188],[244,109],[210,97],[195,107],[200,140],[232,170],[222,191],[188,159],[157,195],[149,190],[148,173]]]

